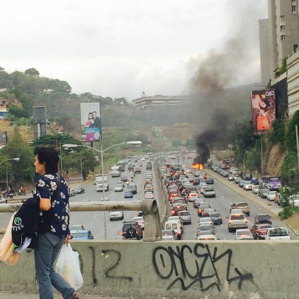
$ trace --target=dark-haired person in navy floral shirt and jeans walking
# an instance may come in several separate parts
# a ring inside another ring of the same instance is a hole
[[[57,173],[58,152],[54,148],[36,148],[34,154],[35,171],[41,175],[33,192],[40,208],[38,246],[34,250],[39,298],[53,299],[54,287],[65,299],[80,299],[54,270],[61,246],[70,240],[69,187]]]

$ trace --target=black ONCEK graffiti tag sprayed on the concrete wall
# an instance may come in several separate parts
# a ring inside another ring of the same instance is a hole
[[[211,252],[207,244],[201,243],[195,244],[193,249],[189,245],[176,246],[175,249],[158,246],[153,250],[152,264],[160,279],[170,281],[167,290],[179,284],[183,291],[199,285],[202,292],[213,287],[220,292],[222,275],[228,284],[236,282],[241,290],[244,281],[253,283],[253,275],[242,273],[237,267],[231,271],[232,256],[231,249],[218,254],[217,247]]]

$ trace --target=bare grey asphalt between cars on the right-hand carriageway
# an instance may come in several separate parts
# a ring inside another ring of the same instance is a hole
[[[185,159],[184,161],[185,164],[188,166],[191,166],[192,160],[187,160]],[[220,240],[234,240],[235,235],[234,233],[229,233],[227,229],[227,221],[228,221],[228,215],[229,215],[229,208],[230,208],[230,203],[231,202],[247,202],[250,206],[250,216],[247,217],[248,219],[248,228],[251,228],[253,223],[254,223],[254,218],[257,213],[266,213],[270,214],[272,216],[272,224],[274,226],[283,226],[287,227],[286,223],[281,221],[277,216],[273,215],[263,207],[261,207],[259,204],[235,193],[228,187],[224,186],[223,184],[219,183],[217,179],[214,179],[214,185],[211,185],[215,191],[216,191],[216,197],[215,198],[206,198],[206,202],[210,202],[212,204],[212,207],[216,209],[218,213],[220,213],[222,219],[223,219],[223,224],[222,225],[215,225],[215,233],[216,233],[216,238]],[[244,192],[251,192],[251,191],[244,191]],[[200,197],[203,197],[201,195]],[[265,200],[265,199],[261,199]],[[192,224],[191,225],[184,225],[184,234],[182,236],[182,240],[194,240],[197,239],[196,236],[196,228],[197,228],[197,221],[199,221],[200,217],[197,216],[196,209],[193,208],[193,203],[189,202],[187,204],[188,211],[191,214],[192,218]],[[168,206],[168,210],[170,211],[170,207]],[[288,228],[288,227],[287,227]],[[294,232],[289,228],[288,229],[291,238],[294,239],[299,239]],[[259,242],[257,240],[257,242]]]

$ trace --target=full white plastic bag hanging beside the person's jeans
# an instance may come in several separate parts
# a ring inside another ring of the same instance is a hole
[[[82,287],[83,277],[80,271],[79,253],[72,250],[71,244],[63,244],[56,263],[56,272],[75,290]]]

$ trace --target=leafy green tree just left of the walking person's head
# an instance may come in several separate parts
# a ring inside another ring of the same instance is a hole
[[[20,158],[19,161],[11,161],[11,172],[14,177],[14,184],[21,180],[32,180],[35,173],[33,166],[34,155],[32,149],[30,149],[22,139],[16,127],[14,128],[13,137],[0,152],[9,158]]]

